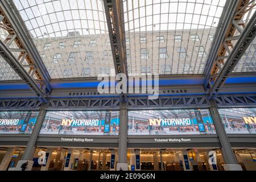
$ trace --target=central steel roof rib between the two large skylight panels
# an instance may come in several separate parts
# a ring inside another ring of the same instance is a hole
[[[104,7],[115,73],[125,73],[127,75],[125,31],[123,27],[124,23],[122,23],[124,22],[122,16],[122,2],[119,0],[104,0]]]

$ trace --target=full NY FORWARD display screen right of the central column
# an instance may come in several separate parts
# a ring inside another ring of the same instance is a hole
[[[128,135],[216,134],[208,109],[128,111]]]

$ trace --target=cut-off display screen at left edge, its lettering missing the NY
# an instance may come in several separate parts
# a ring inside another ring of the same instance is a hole
[[[38,111],[1,111],[0,134],[31,134]]]

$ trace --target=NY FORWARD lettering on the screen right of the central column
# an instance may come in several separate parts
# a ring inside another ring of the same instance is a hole
[[[149,125],[158,126],[176,126],[176,125],[191,125],[189,118],[168,118],[168,119],[148,119]]]

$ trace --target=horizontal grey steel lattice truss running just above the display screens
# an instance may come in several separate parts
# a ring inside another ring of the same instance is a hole
[[[47,110],[119,110],[119,97],[49,98]],[[256,107],[256,94],[218,94],[217,107]],[[39,110],[43,102],[36,98],[0,100],[0,110]],[[159,96],[157,100],[147,97],[127,97],[127,108],[135,109],[186,109],[208,108],[209,96]]]

